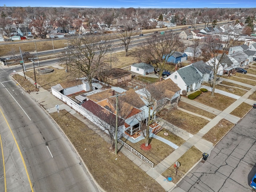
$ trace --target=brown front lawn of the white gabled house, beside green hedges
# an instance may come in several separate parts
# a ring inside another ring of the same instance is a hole
[[[212,92],[202,92],[200,96],[194,99],[194,101],[200,102],[212,108],[223,111],[228,106],[236,101],[236,99],[224,96],[222,94],[214,93],[214,97],[211,96]]]

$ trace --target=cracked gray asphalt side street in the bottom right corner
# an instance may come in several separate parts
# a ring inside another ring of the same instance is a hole
[[[252,109],[172,192],[252,192],[256,173],[256,109]]]

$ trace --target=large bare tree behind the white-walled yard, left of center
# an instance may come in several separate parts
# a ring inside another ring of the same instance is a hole
[[[78,70],[88,80],[90,91],[92,90],[92,78],[97,75],[98,69],[106,66],[105,54],[108,51],[108,45],[101,42],[102,36],[86,36],[82,38],[75,36],[72,38],[70,50],[70,65]]]

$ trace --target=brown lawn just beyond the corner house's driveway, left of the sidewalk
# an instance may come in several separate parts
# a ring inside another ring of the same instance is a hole
[[[196,134],[209,122],[204,118],[188,114],[178,109],[163,109],[158,115],[164,120],[192,134]]]

